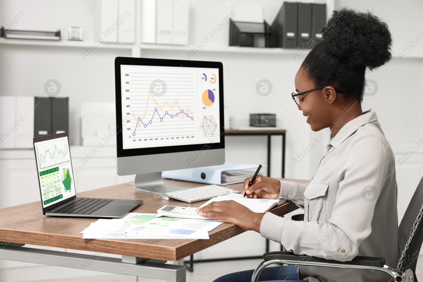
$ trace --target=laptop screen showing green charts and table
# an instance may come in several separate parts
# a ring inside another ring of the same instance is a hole
[[[68,137],[34,143],[43,208],[74,196]]]

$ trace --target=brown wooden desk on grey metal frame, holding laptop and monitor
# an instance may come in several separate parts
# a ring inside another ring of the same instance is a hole
[[[201,186],[201,183],[185,182],[185,181],[171,181],[170,179],[165,179],[165,183],[171,183],[179,186],[186,187],[196,187]],[[301,183],[307,183],[308,181],[297,181]],[[242,190],[242,183],[228,185],[228,188]],[[178,200],[163,200],[157,195],[140,192],[134,189],[131,185],[127,183],[109,186],[101,189],[95,189],[87,192],[77,193],[78,197],[104,197],[104,198],[121,198],[121,199],[137,199],[144,200],[144,202],[139,205],[137,208],[132,210],[132,212],[139,213],[157,213],[157,210],[163,205],[179,205],[179,206],[199,206],[204,202],[198,203],[184,203]],[[272,213],[282,216],[291,211],[297,209],[297,206],[292,203],[285,203],[279,207],[273,208]],[[245,232],[241,228],[233,224],[224,223],[214,230],[209,232],[209,240],[199,240],[199,239],[117,239],[107,240],[107,239],[82,239],[82,234],[80,232],[88,227],[91,222],[95,222],[95,218],[63,218],[63,217],[50,217],[44,216],[41,212],[40,202],[28,203],[24,205],[18,205],[10,208],[3,208],[0,210],[0,242],[9,242],[9,243],[21,243],[21,244],[31,244],[38,246],[52,246],[65,249],[79,249],[84,251],[97,252],[99,254],[109,253],[109,254],[118,254],[123,255],[124,257],[134,258],[147,258],[154,260],[166,260],[166,261],[177,261],[181,260],[184,257],[199,252],[203,249],[206,249],[214,244],[217,244],[221,241],[224,241],[228,238],[236,236],[240,233]],[[7,256],[5,257],[5,250],[19,252],[19,248],[0,245],[0,259],[11,259]],[[28,248],[23,248],[28,249]],[[41,252],[41,251],[40,251]],[[45,251],[44,251],[45,252]],[[49,251],[52,252],[52,251]],[[9,252],[8,255],[13,254]],[[60,257],[66,257],[64,253],[60,254]],[[26,256],[28,253],[25,253]],[[19,256],[14,257],[14,260],[33,262],[29,259],[22,259]],[[43,257],[43,256],[42,256]],[[46,257],[44,255],[44,257]],[[78,257],[81,257],[79,255]],[[35,258],[34,258],[35,259]],[[83,259],[82,259],[83,261]],[[97,271],[106,271],[113,273],[122,273],[116,272],[112,268],[118,266],[119,263],[122,264],[122,261],[115,261],[115,264],[110,265],[110,267],[100,267],[101,263],[99,259],[96,259],[96,263],[93,264],[93,268],[90,270]],[[110,259],[107,259],[110,261]],[[133,259],[134,263],[137,263],[140,260]],[[45,261],[35,261],[36,263],[46,263]],[[116,264],[117,263],[117,264]],[[146,262],[147,263],[147,262]],[[139,263],[136,266],[143,266],[146,263]],[[59,263],[55,264],[55,260],[50,260],[49,264],[60,265]],[[81,266],[76,264],[77,268]],[[148,263],[147,263],[148,265]],[[66,265],[71,266],[69,262]],[[98,268],[98,267],[99,268]],[[169,266],[169,265],[166,265]],[[177,267],[177,266],[175,266]],[[109,269],[110,268],[110,269]],[[159,267],[158,267],[159,268]],[[129,275],[135,275],[135,270],[131,270]],[[178,268],[179,276],[182,271],[181,268]],[[122,273],[128,274],[128,273]],[[137,275],[143,276],[143,275]],[[175,276],[173,278],[178,278]],[[146,276],[146,277],[156,277],[157,276]],[[173,278],[169,278],[169,281],[173,281]],[[163,279],[163,278],[162,278]],[[184,280],[180,280],[182,282]]]

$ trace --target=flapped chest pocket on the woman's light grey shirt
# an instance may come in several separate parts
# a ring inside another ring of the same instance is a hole
[[[304,218],[309,222],[326,223],[326,197],[329,183],[309,183],[304,191]]]

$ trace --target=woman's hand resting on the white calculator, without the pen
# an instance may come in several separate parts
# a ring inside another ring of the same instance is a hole
[[[260,233],[261,219],[264,214],[257,214],[244,205],[233,200],[213,202],[203,208],[198,208],[200,216],[233,223],[244,230],[254,230]]]

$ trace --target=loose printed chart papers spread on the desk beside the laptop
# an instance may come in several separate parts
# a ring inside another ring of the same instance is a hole
[[[99,219],[81,233],[84,239],[209,239],[208,232],[222,223],[128,213],[118,219]]]

